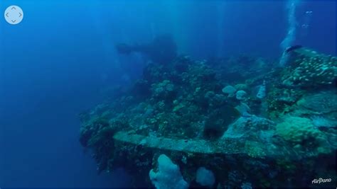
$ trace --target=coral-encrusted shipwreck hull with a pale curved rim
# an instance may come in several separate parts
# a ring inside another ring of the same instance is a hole
[[[80,142],[99,171],[122,166],[138,187],[153,186],[160,154],[190,187],[200,187],[199,167],[214,173],[213,187],[334,187],[336,57],[287,53],[281,69],[252,57],[150,64],[124,96],[80,115]]]

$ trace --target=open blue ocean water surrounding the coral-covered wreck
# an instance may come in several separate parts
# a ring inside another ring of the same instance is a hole
[[[122,170],[97,176],[78,142],[77,114],[144,68],[143,57],[118,55],[117,42],[170,33],[193,59],[276,60],[288,27],[287,1],[1,0],[0,14],[11,5],[24,18],[0,17],[0,187],[128,185]],[[337,55],[336,1],[299,1],[296,18],[294,43]]]

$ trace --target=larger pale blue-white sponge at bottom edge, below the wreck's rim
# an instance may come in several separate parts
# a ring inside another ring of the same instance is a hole
[[[179,167],[173,164],[171,159],[165,154],[161,154],[158,158],[158,172],[151,169],[149,176],[152,184],[158,189],[169,188],[188,188],[188,183],[183,180],[183,176],[179,171]]]

